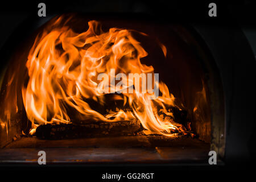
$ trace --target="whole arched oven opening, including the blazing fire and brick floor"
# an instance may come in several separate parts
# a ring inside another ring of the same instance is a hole
[[[55,16],[2,71],[1,162],[207,163],[222,89],[188,26]],[[34,155],[32,155],[34,154]]]

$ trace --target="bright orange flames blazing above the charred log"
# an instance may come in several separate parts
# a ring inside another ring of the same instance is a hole
[[[154,88],[161,93],[152,100],[152,92],[139,92],[145,86],[142,81],[138,90],[129,85],[134,81],[130,78],[123,79],[119,88],[111,79],[116,79],[118,73],[154,73],[151,65],[141,63],[147,52],[133,37],[133,30],[110,28],[104,32],[100,23],[92,20],[88,22],[87,31],[77,34],[71,27],[60,26],[62,20],[61,17],[56,19],[52,27],[38,35],[28,55],[29,79],[22,88],[22,96],[32,128],[46,123],[70,123],[76,119],[116,122],[138,118],[147,134],[175,135],[172,131],[178,130],[178,126],[158,114],[160,108],[164,114],[174,117],[168,107],[175,106],[175,97],[166,84],[152,77]],[[166,47],[162,44],[160,47],[166,55]],[[97,78],[101,73],[110,77],[110,80],[105,80],[108,84],[110,82],[108,91],[113,88],[115,91],[133,89],[133,93],[113,97],[130,109],[118,108],[107,114],[92,109],[88,100],[108,104],[106,85],[98,86],[101,81]]]

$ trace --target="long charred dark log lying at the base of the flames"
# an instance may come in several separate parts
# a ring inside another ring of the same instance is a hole
[[[64,124],[40,125],[36,129],[36,137],[40,139],[70,139],[106,137],[119,135],[135,135],[142,130],[138,119],[119,122],[93,122],[86,125]]]

